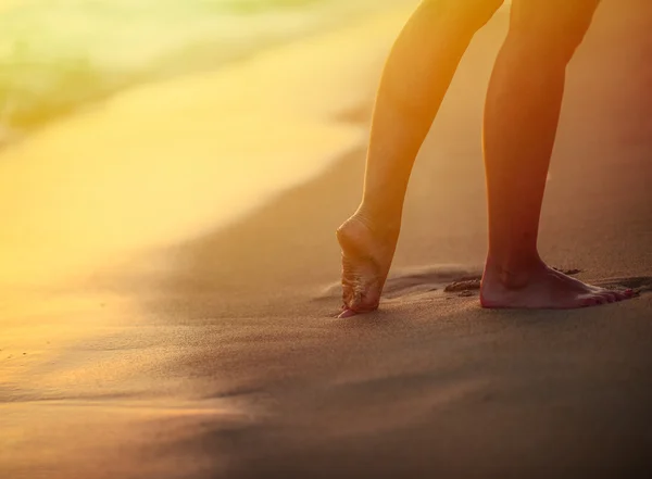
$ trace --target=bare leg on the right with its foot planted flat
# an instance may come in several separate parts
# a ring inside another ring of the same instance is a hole
[[[566,65],[600,0],[514,0],[510,33],[489,85],[485,163],[489,254],[485,307],[569,308],[619,301],[549,268],[537,237]]]

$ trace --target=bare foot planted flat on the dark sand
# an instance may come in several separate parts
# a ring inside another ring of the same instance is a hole
[[[523,272],[507,273],[487,261],[480,287],[480,303],[490,308],[572,310],[615,303],[635,297],[586,285],[542,262]]]

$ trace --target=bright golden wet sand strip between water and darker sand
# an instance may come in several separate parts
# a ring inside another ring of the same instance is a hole
[[[364,126],[338,115],[367,101],[400,12],[216,72],[131,88],[4,149],[0,213],[12,222],[0,232],[8,265],[0,283],[48,282],[93,257],[109,266],[128,261],[237,220],[319,175],[366,140]],[[355,48],[341,55],[349,42]],[[272,65],[276,73],[263,74]],[[166,216],[156,217],[164,203]]]

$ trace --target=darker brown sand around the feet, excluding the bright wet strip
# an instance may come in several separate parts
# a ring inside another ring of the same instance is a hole
[[[640,298],[501,312],[443,291],[486,253],[479,131],[501,16],[421,153],[378,313],[334,317],[362,144],[212,232],[67,282],[3,275],[0,477],[645,477],[652,11],[615,3],[569,68],[540,247]],[[368,104],[343,110],[364,127]]]

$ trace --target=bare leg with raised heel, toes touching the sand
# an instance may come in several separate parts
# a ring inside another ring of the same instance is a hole
[[[503,0],[424,0],[388,59],[376,99],[362,204],[338,229],[342,317],[378,307],[416,154],[474,34]]]

